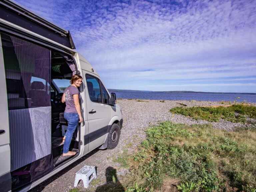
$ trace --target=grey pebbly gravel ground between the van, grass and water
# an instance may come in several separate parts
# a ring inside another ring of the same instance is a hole
[[[97,166],[97,180],[90,184],[90,191],[95,191],[97,186],[106,182],[105,170],[108,167],[113,167],[117,171],[117,177],[121,179],[127,172],[114,163],[118,155],[123,153],[123,150],[132,152],[135,147],[145,139],[144,130],[150,125],[156,125],[161,121],[172,121],[174,123],[184,124],[204,124],[209,123],[203,120],[193,120],[183,115],[172,114],[169,112],[170,108],[179,107],[185,104],[188,107],[192,106],[213,106],[224,105],[221,102],[210,101],[169,101],[160,102],[159,100],[137,100],[119,99],[117,103],[121,106],[123,112],[123,128],[119,144],[112,150],[94,150],[77,162],[73,163],[66,169],[58,174],[49,178],[39,186],[31,190],[31,192],[65,192],[73,188],[75,173],[80,170],[84,165]],[[228,104],[228,103],[225,103]],[[253,105],[256,106],[256,103]],[[240,123],[231,123],[225,120],[220,122],[211,123],[216,129],[233,130],[235,127],[240,126]],[[83,183],[78,184],[80,191],[88,191],[83,188]],[[98,191],[98,190],[97,190]]]

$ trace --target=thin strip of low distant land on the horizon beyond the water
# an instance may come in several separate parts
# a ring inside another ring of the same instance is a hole
[[[140,91],[140,90],[126,90],[126,89],[108,89],[114,92],[140,92],[140,93],[213,93],[213,94],[248,94],[256,95],[256,93],[236,93],[236,92],[202,92],[202,91]]]

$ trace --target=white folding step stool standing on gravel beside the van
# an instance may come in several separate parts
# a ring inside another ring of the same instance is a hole
[[[89,180],[90,176],[91,176],[91,178]],[[79,181],[82,180],[83,183],[84,183],[84,188],[88,188],[89,187],[89,183],[94,178],[95,179],[97,178],[95,166],[85,165],[85,166],[82,167],[82,169],[80,169],[78,172],[76,172],[76,178],[75,178],[74,187],[76,187],[77,184],[79,183]]]

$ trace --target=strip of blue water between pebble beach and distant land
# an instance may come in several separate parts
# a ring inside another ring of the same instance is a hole
[[[122,99],[154,99],[154,100],[197,100],[197,101],[246,101],[256,103],[256,94],[246,93],[163,93],[163,92],[122,92],[116,93]],[[240,97],[239,99],[237,97]]]

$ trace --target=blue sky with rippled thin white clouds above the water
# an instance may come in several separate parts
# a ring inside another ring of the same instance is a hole
[[[17,0],[70,30],[107,88],[256,93],[256,2]]]

